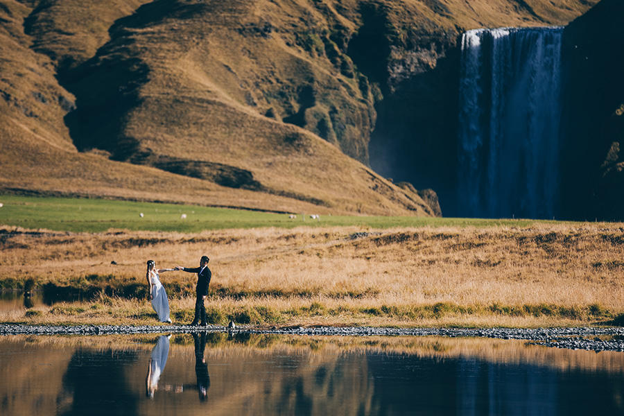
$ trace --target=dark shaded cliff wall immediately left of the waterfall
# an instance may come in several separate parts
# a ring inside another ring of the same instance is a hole
[[[417,47],[431,53],[434,65],[412,68],[412,76],[392,85],[376,105],[377,123],[369,146],[370,164],[376,172],[410,182],[416,189],[434,189],[444,216],[460,214],[455,201],[458,35],[454,31],[433,33],[419,39]],[[395,62],[395,69],[409,66]]]

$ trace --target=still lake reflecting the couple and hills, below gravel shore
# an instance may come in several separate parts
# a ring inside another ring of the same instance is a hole
[[[0,337],[1,415],[624,414],[624,354],[442,337]]]

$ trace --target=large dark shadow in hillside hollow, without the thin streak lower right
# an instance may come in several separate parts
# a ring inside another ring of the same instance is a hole
[[[150,80],[150,68],[140,49],[132,48],[135,31],[128,29],[161,24],[165,19],[190,19],[207,7],[166,0],[144,4],[110,26],[110,40],[93,58],[77,64],[67,56],[59,62],[59,83],[76,96],[76,110],[64,120],[78,150],[106,150],[119,161],[139,152],[139,141],[124,134],[125,120],[141,103],[139,89]]]

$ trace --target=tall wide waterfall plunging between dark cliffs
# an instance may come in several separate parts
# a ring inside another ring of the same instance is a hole
[[[553,218],[559,171],[563,28],[462,37],[460,207],[483,218]]]

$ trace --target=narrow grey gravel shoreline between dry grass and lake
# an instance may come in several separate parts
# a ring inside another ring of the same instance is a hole
[[[0,324],[0,336],[6,335],[111,335],[135,333],[193,333],[193,332],[270,333],[300,336],[447,336],[498,338],[505,340],[526,340],[530,345],[544,345],[565,349],[585,349],[596,352],[624,352],[624,328],[488,328],[488,329],[448,329],[448,328],[373,328],[373,327],[311,327],[311,328],[272,328],[189,327],[178,325],[115,326],[78,325],[42,326]],[[603,338],[600,338],[603,337]]]

